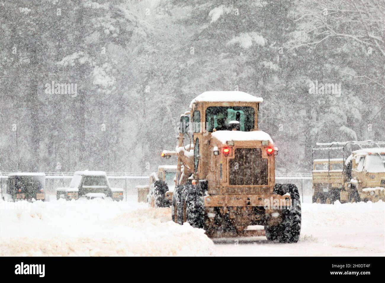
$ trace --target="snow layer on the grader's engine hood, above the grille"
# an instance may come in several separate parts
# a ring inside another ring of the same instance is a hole
[[[264,131],[216,131],[211,134],[222,143],[227,141],[270,141],[270,145],[273,145],[273,139],[270,135]]]

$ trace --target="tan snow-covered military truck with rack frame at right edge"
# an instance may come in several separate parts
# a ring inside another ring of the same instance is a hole
[[[316,145],[313,148],[313,203],[330,204],[336,200],[345,203],[382,198],[382,187],[385,186],[382,161],[385,150],[380,146],[385,146],[385,142],[352,141]],[[355,148],[360,149],[353,151]],[[319,154],[327,158],[314,159]]]

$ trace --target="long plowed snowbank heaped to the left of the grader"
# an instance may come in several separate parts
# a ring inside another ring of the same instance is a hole
[[[208,256],[203,229],[134,202],[0,201],[2,256]]]

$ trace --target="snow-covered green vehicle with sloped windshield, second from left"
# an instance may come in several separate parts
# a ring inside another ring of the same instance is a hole
[[[111,198],[122,201],[123,189],[112,188],[104,171],[77,171],[68,188],[56,189],[56,198],[65,200]]]

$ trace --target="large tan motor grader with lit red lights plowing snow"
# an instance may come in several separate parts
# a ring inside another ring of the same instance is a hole
[[[174,222],[211,237],[263,225],[270,241],[298,241],[300,196],[293,184],[275,184],[278,149],[258,128],[262,101],[239,91],[204,92],[181,115],[176,150],[162,152],[177,156],[176,186],[167,192]]]

